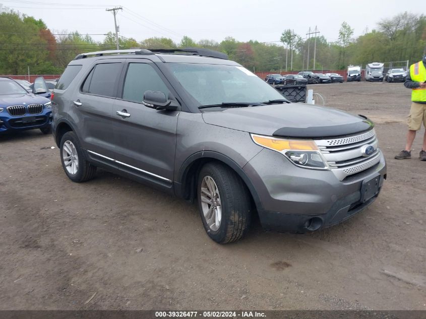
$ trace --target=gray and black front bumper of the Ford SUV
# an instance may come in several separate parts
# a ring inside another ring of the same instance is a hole
[[[265,229],[307,232],[338,224],[374,202],[378,194],[362,200],[364,180],[386,178],[383,154],[375,166],[340,181],[333,171],[299,168],[283,155],[264,149],[244,170],[256,185],[259,217]],[[258,204],[259,206],[259,204]]]

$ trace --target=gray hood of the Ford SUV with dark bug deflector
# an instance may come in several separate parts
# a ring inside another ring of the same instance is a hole
[[[207,124],[254,134],[296,138],[323,138],[370,130],[367,118],[330,107],[305,103],[229,108],[205,111]]]

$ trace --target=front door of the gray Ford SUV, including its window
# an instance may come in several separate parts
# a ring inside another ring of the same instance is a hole
[[[114,159],[121,169],[171,189],[179,111],[152,109],[142,101],[146,91],[167,97],[177,97],[176,92],[158,67],[143,58],[128,59],[121,83],[113,109]]]

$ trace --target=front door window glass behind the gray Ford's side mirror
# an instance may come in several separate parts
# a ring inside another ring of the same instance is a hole
[[[145,91],[163,92],[166,96],[169,93],[153,67],[145,63],[129,63],[123,88],[123,99],[141,103]]]

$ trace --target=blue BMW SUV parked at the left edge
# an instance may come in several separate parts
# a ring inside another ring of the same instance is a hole
[[[0,134],[33,129],[50,133],[51,102],[38,95],[46,92],[43,78],[37,78],[33,93],[28,93],[13,79],[0,77]]]

